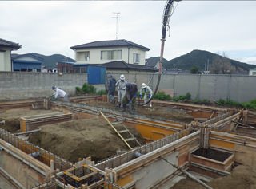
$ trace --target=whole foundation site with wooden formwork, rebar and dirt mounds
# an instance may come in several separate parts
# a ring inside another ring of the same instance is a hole
[[[4,188],[254,188],[256,113],[107,96],[1,107]]]

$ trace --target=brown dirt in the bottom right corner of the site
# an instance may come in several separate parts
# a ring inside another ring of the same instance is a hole
[[[213,179],[209,183],[206,183],[214,189],[244,189],[244,188],[256,188],[256,169],[254,167],[239,165],[235,167],[230,176]],[[175,184],[172,189],[203,189],[199,183],[191,179],[183,179],[179,183]]]

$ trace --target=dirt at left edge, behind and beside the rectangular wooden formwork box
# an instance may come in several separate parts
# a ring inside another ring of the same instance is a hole
[[[46,113],[59,112],[58,110],[38,110],[38,109],[10,109],[0,113],[0,128],[8,132],[20,132],[20,118],[23,116],[34,116]]]

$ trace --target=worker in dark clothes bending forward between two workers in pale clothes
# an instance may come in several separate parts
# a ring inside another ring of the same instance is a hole
[[[122,98],[122,108],[123,112],[126,111],[127,104],[130,105],[131,112],[134,111],[134,106],[136,102],[138,88],[137,85],[134,83],[126,83],[126,95]]]

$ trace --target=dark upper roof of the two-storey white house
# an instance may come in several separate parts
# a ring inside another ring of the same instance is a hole
[[[89,49],[89,48],[98,48],[98,47],[115,47],[115,46],[130,46],[137,47],[138,49],[144,49],[146,51],[150,50],[145,46],[138,45],[134,42],[127,41],[125,39],[109,40],[109,41],[94,41],[82,45],[71,46],[70,49]]]

